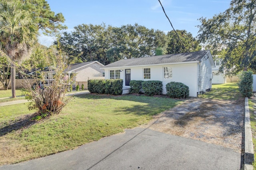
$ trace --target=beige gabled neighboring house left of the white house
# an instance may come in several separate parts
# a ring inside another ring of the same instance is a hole
[[[70,77],[72,74],[76,85],[81,88],[84,84],[84,89],[87,89],[89,79],[104,79],[104,69],[101,69],[104,65],[98,61],[89,61],[85,63],[75,63],[70,65],[64,70]]]

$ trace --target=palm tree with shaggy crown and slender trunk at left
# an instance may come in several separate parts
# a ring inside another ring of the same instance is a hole
[[[38,26],[31,6],[23,0],[0,2],[0,50],[11,59],[12,97],[15,98],[16,66],[37,42]]]

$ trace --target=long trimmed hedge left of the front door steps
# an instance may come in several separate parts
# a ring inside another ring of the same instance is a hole
[[[88,90],[90,91],[90,93],[122,95],[123,80],[122,79],[89,80]]]

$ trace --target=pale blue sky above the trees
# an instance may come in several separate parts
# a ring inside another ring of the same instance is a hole
[[[160,0],[174,29],[197,36],[198,18],[212,18],[229,8],[230,0]],[[67,32],[80,24],[102,24],[120,27],[138,23],[146,28],[172,30],[158,0],[47,0],[55,13],[66,19]],[[41,35],[39,42],[51,45],[54,38]]]

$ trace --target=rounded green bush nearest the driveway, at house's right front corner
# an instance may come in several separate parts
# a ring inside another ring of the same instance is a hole
[[[166,95],[171,98],[185,99],[189,96],[189,87],[180,82],[170,82],[166,84]]]

